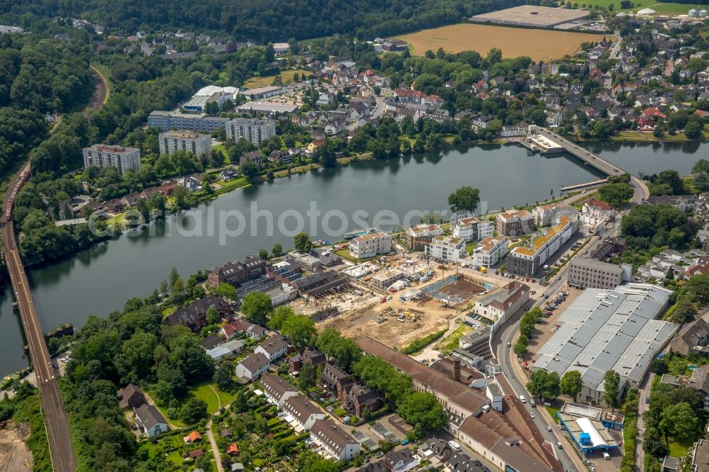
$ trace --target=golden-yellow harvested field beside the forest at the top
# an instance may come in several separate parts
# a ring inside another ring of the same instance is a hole
[[[446,52],[477,51],[484,56],[493,47],[499,47],[503,57],[529,56],[535,61],[548,61],[550,57],[574,55],[581,43],[601,41],[603,35],[459,23],[398,38],[411,45],[415,55],[442,47]]]

